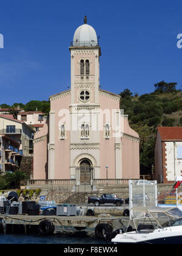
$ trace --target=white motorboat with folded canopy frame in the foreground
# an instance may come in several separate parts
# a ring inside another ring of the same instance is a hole
[[[112,243],[182,244],[182,212],[179,208],[133,207],[133,210],[146,213],[152,225],[140,224],[135,231],[116,235],[112,238]],[[132,220],[136,222],[135,219]]]

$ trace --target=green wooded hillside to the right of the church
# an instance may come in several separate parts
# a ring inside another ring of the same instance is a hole
[[[149,94],[138,96],[129,89],[120,93],[120,108],[129,115],[130,127],[140,135],[141,175],[152,173],[157,127],[182,126],[182,92],[176,85],[161,81]]]

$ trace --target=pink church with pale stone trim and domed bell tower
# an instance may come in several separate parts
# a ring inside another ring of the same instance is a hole
[[[101,48],[86,17],[69,50],[71,88],[49,98],[49,118],[34,138],[33,179],[139,179],[140,139],[121,97],[99,88]]]

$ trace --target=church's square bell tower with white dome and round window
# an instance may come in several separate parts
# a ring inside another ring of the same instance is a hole
[[[86,16],[84,17],[84,24],[76,29],[69,49],[72,104],[99,104],[99,57],[101,56],[101,48],[95,30],[87,24]]]

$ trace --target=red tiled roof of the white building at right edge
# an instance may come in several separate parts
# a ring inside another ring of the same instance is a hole
[[[182,127],[157,127],[161,140],[182,141]]]

